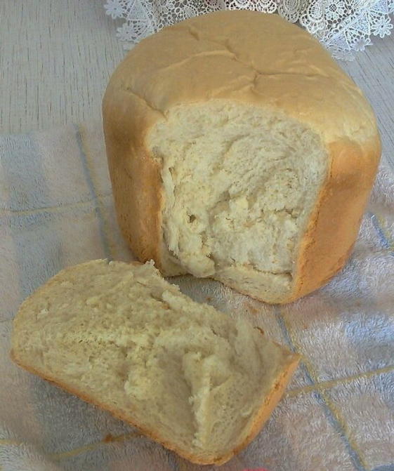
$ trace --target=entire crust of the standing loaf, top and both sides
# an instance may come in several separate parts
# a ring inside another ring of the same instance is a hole
[[[374,113],[320,43],[278,15],[220,11],[143,40],[114,72],[103,117],[119,223],[140,260],[178,274],[162,240],[160,164],[147,135],[173,107],[209,100],[283,112],[317,133],[329,172],[298,249],[287,303],[346,262],[379,164]]]

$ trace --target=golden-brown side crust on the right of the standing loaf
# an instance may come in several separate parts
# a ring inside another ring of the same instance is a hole
[[[331,168],[301,247],[294,292],[284,302],[304,296],[341,270],[352,251],[376,176],[381,145],[342,141],[329,146]]]

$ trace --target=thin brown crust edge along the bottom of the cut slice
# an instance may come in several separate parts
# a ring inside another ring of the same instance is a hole
[[[202,456],[196,456],[192,453],[188,453],[185,450],[178,449],[178,447],[174,445],[173,443],[168,442],[162,437],[159,437],[157,434],[155,434],[155,431],[147,430],[144,427],[142,427],[140,424],[136,422],[136,420],[133,417],[125,416],[124,414],[119,413],[119,411],[117,411],[116,409],[112,409],[112,407],[108,406],[107,404],[102,404],[98,401],[91,399],[91,397],[88,394],[86,394],[86,392],[80,391],[74,387],[70,387],[66,385],[65,383],[62,383],[61,381],[45,373],[42,373],[41,371],[37,369],[34,369],[32,366],[28,366],[21,359],[18,359],[18,355],[15,354],[14,350],[11,350],[10,356],[11,356],[11,359],[16,364],[18,364],[18,366],[25,369],[26,371],[29,371],[29,373],[33,373],[37,376],[40,376],[44,380],[49,381],[50,383],[53,383],[53,385],[61,387],[63,390],[70,392],[71,394],[74,394],[80,399],[83,399],[85,402],[88,402],[89,404],[93,404],[94,406],[97,406],[100,409],[103,409],[105,411],[112,413],[112,415],[116,418],[119,418],[119,420],[124,420],[124,422],[129,423],[133,427],[137,427],[138,430],[140,430],[146,437],[149,437],[155,440],[155,442],[162,444],[165,448],[171,451],[175,451],[175,453],[177,453],[182,458],[185,458],[186,460],[189,460],[190,462],[196,463],[198,465],[210,465],[210,464],[222,465],[226,461],[230,460],[232,456],[234,456],[236,453],[242,450],[245,446],[247,446],[251,442],[251,440],[254,439],[254,437],[256,437],[256,434],[258,434],[258,432],[261,430],[261,427],[263,427],[263,424],[265,423],[266,420],[268,420],[271,412],[273,411],[273,409],[275,409],[275,406],[277,406],[277,403],[280,401],[292,374],[294,373],[294,371],[296,370],[296,367],[298,366],[298,361],[299,361],[299,356],[297,354],[289,356],[289,364],[287,365],[286,368],[284,368],[284,370],[282,371],[282,374],[280,375],[279,378],[277,378],[277,381],[273,385],[270,394],[268,394],[263,404],[261,404],[261,409],[258,412],[258,415],[256,416],[254,425],[250,433],[248,434],[247,438],[244,440],[244,442],[242,442],[242,444],[239,444],[239,446],[237,446],[236,449],[232,450],[230,453],[228,453],[225,456],[202,457]]]

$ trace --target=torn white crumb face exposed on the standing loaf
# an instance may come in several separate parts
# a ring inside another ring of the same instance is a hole
[[[162,168],[171,262],[250,296],[287,298],[327,177],[319,135],[281,112],[211,100],[173,107],[147,143]]]

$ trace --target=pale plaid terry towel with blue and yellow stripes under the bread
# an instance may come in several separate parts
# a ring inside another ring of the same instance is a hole
[[[20,302],[67,265],[133,258],[117,227],[100,125],[0,138],[0,469],[197,471],[8,358]],[[302,355],[268,425],[223,471],[394,471],[394,168],[383,157],[346,268],[270,306],[211,280],[180,288]]]

